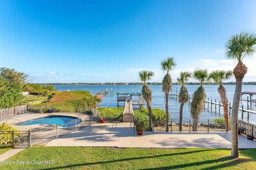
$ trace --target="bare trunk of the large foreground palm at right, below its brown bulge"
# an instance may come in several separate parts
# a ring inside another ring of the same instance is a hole
[[[232,115],[231,115],[231,156],[238,158],[238,111],[239,103],[242,92],[242,79],[236,80],[236,90],[234,94],[234,100],[232,104]]]

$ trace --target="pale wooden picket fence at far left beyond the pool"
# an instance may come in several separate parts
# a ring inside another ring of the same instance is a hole
[[[9,109],[0,109],[0,119],[24,113],[26,110],[28,110],[28,105],[12,107]]]

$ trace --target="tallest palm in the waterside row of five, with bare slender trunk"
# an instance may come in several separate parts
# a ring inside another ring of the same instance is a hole
[[[164,79],[162,81],[162,92],[165,93],[165,127],[166,132],[168,132],[168,123],[169,123],[169,113],[168,113],[168,102],[169,102],[169,92],[172,90],[172,78],[169,74],[169,71],[172,70],[172,68],[176,66],[176,63],[174,62],[173,57],[168,57],[166,60],[163,60],[161,62],[161,69],[163,71],[166,71],[166,75],[164,76]]]

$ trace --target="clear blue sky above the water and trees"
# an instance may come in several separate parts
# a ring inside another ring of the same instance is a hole
[[[180,71],[233,70],[224,45],[256,31],[255,0],[0,0],[0,67],[33,83],[162,82],[160,63]],[[256,81],[256,55],[244,60]],[[194,80],[191,80],[194,82]],[[235,79],[230,81],[235,82]]]

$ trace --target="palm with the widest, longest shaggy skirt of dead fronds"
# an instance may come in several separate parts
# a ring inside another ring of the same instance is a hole
[[[204,91],[203,83],[206,82],[206,80],[208,79],[208,70],[197,68],[196,70],[194,70],[193,74],[194,78],[196,80],[199,80],[200,82],[200,87],[193,94],[190,109],[190,115],[193,119],[192,130],[197,131],[198,120],[204,110],[204,100],[206,98],[206,94]]]

